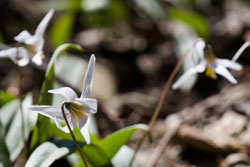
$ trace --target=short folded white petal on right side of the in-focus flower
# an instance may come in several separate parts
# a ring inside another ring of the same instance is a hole
[[[93,98],[76,98],[75,101],[81,103],[83,106],[87,107],[91,114],[95,114],[97,112],[97,100]]]

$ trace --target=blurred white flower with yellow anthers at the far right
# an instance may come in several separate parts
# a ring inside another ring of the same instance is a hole
[[[217,75],[221,75],[226,78],[232,84],[237,84],[237,80],[233,75],[228,71],[227,68],[240,71],[242,66],[235,61],[239,58],[240,54],[249,46],[249,43],[246,42],[242,47],[237,51],[232,60],[228,59],[219,59],[216,58],[213,50],[210,45],[206,45],[203,39],[198,39],[193,47],[191,48],[192,54],[197,53],[200,62],[195,65],[193,68],[187,70],[172,86],[173,89],[177,89],[181,84],[183,84],[189,76],[195,73],[203,73],[212,79],[217,79]]]

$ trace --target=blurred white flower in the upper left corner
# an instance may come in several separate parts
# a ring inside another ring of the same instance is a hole
[[[50,9],[43,20],[37,26],[34,35],[27,30],[22,31],[14,37],[15,41],[21,43],[21,46],[0,51],[0,58],[10,58],[19,66],[26,66],[30,59],[36,65],[42,64],[44,32],[54,14],[54,9]]]

